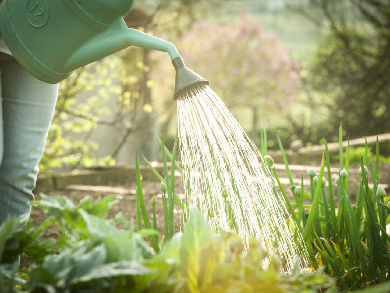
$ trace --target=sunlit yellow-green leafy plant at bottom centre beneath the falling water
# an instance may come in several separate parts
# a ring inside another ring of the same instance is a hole
[[[181,273],[185,277],[183,292],[317,292],[330,288],[332,279],[321,270],[315,274],[291,275],[281,272],[278,255],[268,270],[262,264],[266,252],[256,240],[243,254],[242,240],[233,233],[219,235],[207,225],[199,211],[192,211],[183,226],[181,241]]]

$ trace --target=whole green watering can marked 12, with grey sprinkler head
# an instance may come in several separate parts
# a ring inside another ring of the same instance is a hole
[[[172,43],[128,29],[123,17],[134,5],[135,0],[3,0],[0,32],[21,66],[51,84],[128,46],[169,54],[176,69],[175,99],[209,84],[184,65]]]

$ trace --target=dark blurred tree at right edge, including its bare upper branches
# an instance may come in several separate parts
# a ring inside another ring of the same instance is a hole
[[[388,0],[308,0],[290,4],[317,25],[321,11],[330,33],[319,44],[307,79],[330,96],[331,118],[351,136],[390,130],[390,2]],[[335,127],[337,129],[337,127]]]

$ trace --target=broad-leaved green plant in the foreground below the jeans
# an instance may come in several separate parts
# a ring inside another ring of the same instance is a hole
[[[36,230],[29,225],[15,231],[14,223],[19,223],[18,219],[2,226],[4,231],[13,231],[5,238],[5,247],[9,249],[4,250],[3,257],[25,253],[36,263],[24,271],[27,282],[18,279],[18,285],[25,289],[23,292],[105,292],[118,286],[123,290],[146,292],[153,282],[161,283],[162,292],[173,288],[170,277],[160,278],[157,272],[167,275],[160,266],[171,272],[175,264],[161,264],[161,259],[155,258],[154,251],[144,241],[145,236],[152,237],[156,231],[120,229],[118,224],[124,222],[120,216],[105,220],[118,197],[95,202],[86,197],[78,205],[66,197],[41,197],[35,204],[49,217]],[[31,235],[41,236],[50,226],[57,227],[58,239],[27,243]],[[44,256],[43,247],[47,248]],[[11,276],[7,280],[11,282]]]

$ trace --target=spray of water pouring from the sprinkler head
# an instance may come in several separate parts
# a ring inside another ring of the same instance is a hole
[[[177,108],[185,212],[197,207],[217,231],[236,230],[247,245],[260,239],[270,255],[280,255],[287,272],[297,261],[305,266],[257,147],[220,97],[198,86],[178,98]]]

